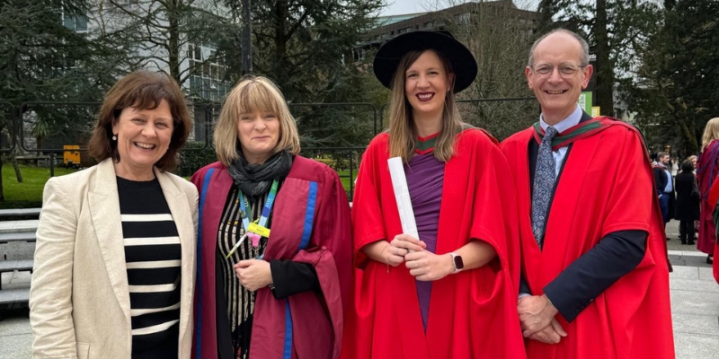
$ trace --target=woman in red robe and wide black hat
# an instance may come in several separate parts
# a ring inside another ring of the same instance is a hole
[[[496,140],[460,121],[469,50],[413,31],[377,52],[389,130],[369,144],[353,201],[347,358],[524,358],[515,194]],[[401,157],[419,238],[403,234],[387,159]]]

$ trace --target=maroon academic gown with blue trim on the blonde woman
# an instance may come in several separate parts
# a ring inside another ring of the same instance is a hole
[[[201,241],[192,355],[216,359],[217,227],[233,180],[220,162],[203,167],[191,180],[200,191]],[[308,291],[276,300],[269,287],[259,289],[253,315],[252,357],[339,357],[351,289],[351,219],[342,182],[331,168],[295,156],[272,208],[271,234],[263,259],[312,264],[322,292]]]

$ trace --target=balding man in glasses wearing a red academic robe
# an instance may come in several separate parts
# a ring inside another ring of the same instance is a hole
[[[525,74],[539,122],[502,143],[519,200],[528,358],[674,358],[652,166],[634,127],[577,105],[588,49],[571,31],[537,39]]]

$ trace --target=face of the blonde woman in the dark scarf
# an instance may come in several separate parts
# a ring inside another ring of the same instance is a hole
[[[280,118],[271,112],[243,113],[237,122],[237,138],[247,162],[264,163],[280,142]]]

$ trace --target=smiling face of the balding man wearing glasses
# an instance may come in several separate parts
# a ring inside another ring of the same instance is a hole
[[[535,48],[532,67],[554,66],[549,74],[538,74],[527,66],[525,75],[529,88],[542,107],[542,117],[555,125],[569,117],[577,107],[581,90],[590,82],[592,67],[581,64],[581,44],[572,35],[556,32],[543,39]],[[574,74],[562,74],[560,68],[579,66]],[[583,67],[582,67],[583,66]]]

